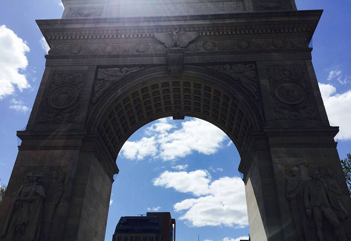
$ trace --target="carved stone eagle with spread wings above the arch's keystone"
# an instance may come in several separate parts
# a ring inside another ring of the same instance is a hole
[[[154,33],[159,41],[163,42],[167,48],[184,48],[189,42],[199,36],[200,32],[180,32]]]

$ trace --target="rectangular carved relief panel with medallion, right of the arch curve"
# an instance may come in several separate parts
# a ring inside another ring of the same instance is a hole
[[[317,119],[304,66],[266,68],[276,120]]]

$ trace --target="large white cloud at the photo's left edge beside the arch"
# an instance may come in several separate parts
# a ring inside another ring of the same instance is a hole
[[[0,26],[0,99],[31,87],[20,71],[28,66],[27,44],[5,25]]]

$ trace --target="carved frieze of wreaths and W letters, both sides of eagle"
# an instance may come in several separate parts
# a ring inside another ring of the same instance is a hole
[[[186,52],[248,51],[307,48],[305,37],[278,39],[237,39],[192,41]],[[110,43],[110,44],[52,44],[49,55],[108,55],[164,53],[166,46],[161,42]]]

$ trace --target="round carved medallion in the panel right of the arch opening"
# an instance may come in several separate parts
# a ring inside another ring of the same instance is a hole
[[[278,99],[286,104],[300,104],[306,99],[304,87],[294,81],[283,81],[274,89]]]

